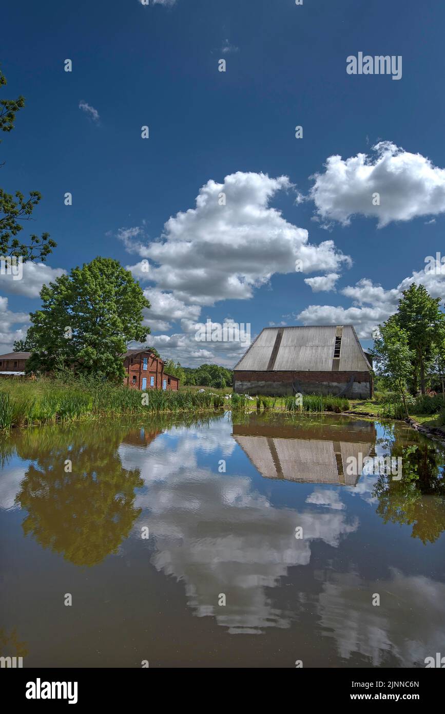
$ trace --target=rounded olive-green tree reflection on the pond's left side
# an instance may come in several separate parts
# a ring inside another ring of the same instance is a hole
[[[135,488],[138,469],[123,468],[117,449],[122,429],[111,425],[30,430],[17,443],[21,458],[31,458],[16,503],[28,512],[27,535],[75,565],[95,565],[128,537],[140,514]],[[72,473],[65,473],[65,461]]]

